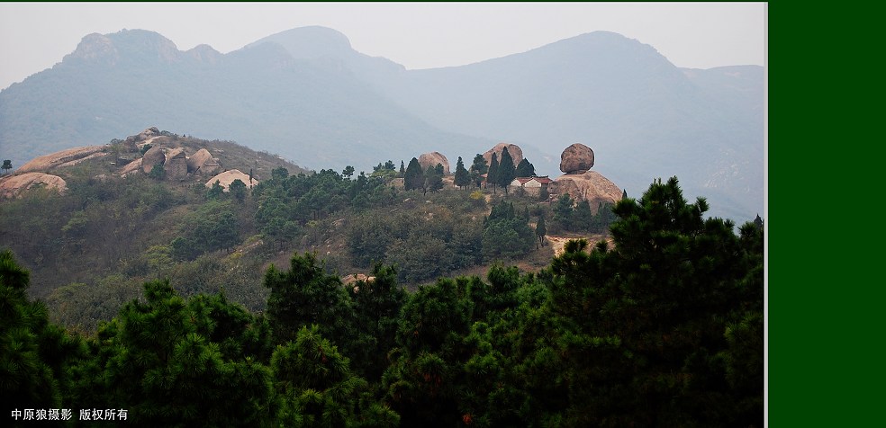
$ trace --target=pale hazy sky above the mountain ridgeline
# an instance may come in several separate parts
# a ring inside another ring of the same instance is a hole
[[[0,3],[0,88],[77,48],[86,34],[157,31],[187,50],[228,53],[296,27],[341,31],[407,68],[448,67],[615,31],[677,67],[764,65],[761,3]]]

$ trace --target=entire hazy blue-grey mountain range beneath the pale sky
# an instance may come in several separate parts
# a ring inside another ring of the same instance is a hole
[[[581,142],[629,196],[676,175],[687,197],[742,222],[764,209],[763,77],[756,66],[674,67],[607,31],[429,70],[366,56],[323,27],[226,55],[180,51],[151,31],[91,34],[0,92],[0,156],[21,165],[157,124],[358,171],[429,151],[470,162],[509,141],[539,174],[556,175],[558,154]]]

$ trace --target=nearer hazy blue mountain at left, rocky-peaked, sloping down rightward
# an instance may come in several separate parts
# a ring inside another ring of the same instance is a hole
[[[365,82],[276,43],[222,55],[206,46],[179,51],[152,31],[92,34],[55,67],[0,93],[0,153],[15,165],[154,125],[315,169],[371,171],[427,147],[473,155],[491,145],[434,129]]]

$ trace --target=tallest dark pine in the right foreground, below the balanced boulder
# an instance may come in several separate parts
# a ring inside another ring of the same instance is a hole
[[[653,183],[616,205],[613,250],[571,241],[551,264],[565,424],[763,424],[759,240],[706,210]]]

